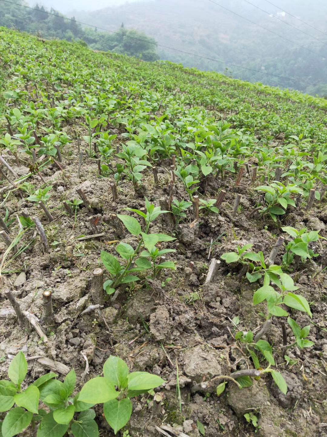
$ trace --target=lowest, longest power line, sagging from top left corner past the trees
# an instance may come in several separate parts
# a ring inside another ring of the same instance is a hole
[[[31,10],[36,10],[37,12],[40,12],[40,9],[36,9],[35,7],[30,7],[30,6],[25,6],[25,5],[22,5],[22,4],[13,3],[13,2],[8,1],[8,0],[0,0],[0,1],[2,1],[4,3],[9,3],[9,4],[12,4],[12,5],[15,5],[15,6],[25,7],[27,9],[31,9]],[[211,1],[211,0],[209,0],[209,1]],[[42,10],[41,12],[44,13],[44,14],[53,15],[54,17],[60,16],[58,14],[54,14],[54,13],[48,12],[48,11],[43,11]],[[82,21],[73,20],[72,18],[68,18],[68,17],[64,17],[64,18],[66,20],[69,20],[69,21],[75,21],[78,24],[83,24],[84,26],[89,26],[89,27],[92,27],[92,28],[95,28],[95,29],[99,29],[99,30],[103,30],[103,31],[106,31],[106,32],[114,33],[116,35],[121,35],[121,33],[119,33],[119,32],[112,31],[112,30],[105,29],[105,28],[100,28],[98,26],[95,26],[94,24],[83,23]],[[168,47],[167,45],[163,45],[163,44],[157,44],[157,42],[147,41],[146,39],[136,38],[136,37],[129,36],[129,35],[124,35],[124,36],[126,38],[131,38],[131,39],[134,39],[136,41],[147,42],[149,44],[153,44],[153,45],[158,46],[158,47],[163,47],[164,49],[174,50],[175,52],[180,52],[180,53],[184,53],[186,55],[196,56],[197,58],[200,58],[200,59],[207,59],[208,61],[219,62],[219,63],[227,65],[227,66],[232,66],[232,67],[236,67],[236,68],[242,68],[242,69],[245,69],[245,70],[248,70],[248,71],[252,71],[252,72],[255,72],[255,73],[265,74],[267,76],[279,77],[280,79],[286,79],[286,80],[292,80],[292,81],[296,81],[297,80],[297,79],[294,79],[293,77],[279,76],[277,74],[267,73],[266,71],[255,70],[255,69],[252,69],[252,68],[243,67],[243,66],[236,65],[236,64],[231,64],[229,62],[220,61],[218,59],[208,58],[207,56],[198,55],[196,53],[186,52],[185,50],[174,49],[173,47]]]

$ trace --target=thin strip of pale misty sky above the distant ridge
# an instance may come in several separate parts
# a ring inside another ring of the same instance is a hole
[[[104,7],[120,6],[124,3],[133,3],[140,0],[39,0],[39,4],[43,4],[45,7],[59,10],[60,12],[67,13],[72,10],[97,10]],[[37,0],[27,0],[31,6],[37,3]]]

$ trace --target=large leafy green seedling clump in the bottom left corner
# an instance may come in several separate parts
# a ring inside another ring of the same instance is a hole
[[[27,361],[18,352],[10,363],[10,381],[0,381],[0,411],[7,412],[1,427],[3,437],[22,433],[30,425],[38,437],[63,437],[67,432],[74,437],[98,437],[95,422],[96,404],[103,404],[103,414],[115,434],[128,423],[132,414],[130,398],[149,392],[164,383],[157,375],[132,372],[119,357],[110,356],[103,365],[102,377],[86,382],[74,395],[75,370],[59,381],[53,372],[37,378],[24,390],[22,383],[27,375]],[[46,406],[43,409],[40,406]]]

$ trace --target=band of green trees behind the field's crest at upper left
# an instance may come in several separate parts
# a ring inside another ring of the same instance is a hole
[[[44,38],[60,38],[67,41],[82,40],[92,49],[136,56],[144,61],[156,61],[155,40],[133,29],[122,26],[116,33],[100,32],[94,28],[83,29],[75,20],[51,8],[46,10],[38,3],[35,9],[27,9],[24,0],[12,0],[16,4],[0,3],[0,26],[26,31]],[[50,12],[48,14],[47,12]]]

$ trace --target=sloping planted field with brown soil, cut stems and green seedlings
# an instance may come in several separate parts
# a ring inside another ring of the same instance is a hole
[[[320,435],[327,101],[7,28],[0,61],[2,437]]]

